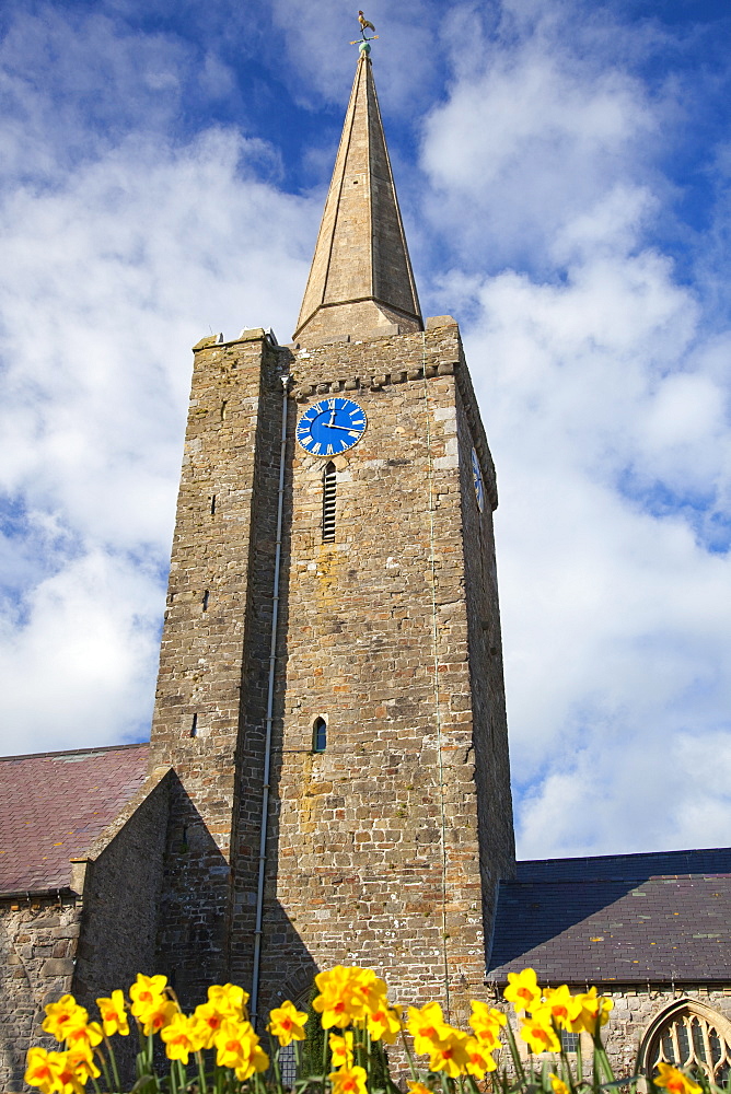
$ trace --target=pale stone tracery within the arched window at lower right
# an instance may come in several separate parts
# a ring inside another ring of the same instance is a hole
[[[723,1022],[719,1023],[722,1025]],[[693,1004],[675,1010],[657,1031],[648,1054],[648,1074],[659,1063],[672,1063],[728,1086],[731,1076],[731,1046],[712,1019]]]

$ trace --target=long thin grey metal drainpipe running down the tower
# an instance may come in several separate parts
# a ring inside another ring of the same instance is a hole
[[[254,970],[252,974],[252,1024],[256,1027],[259,1002],[259,965],[262,962],[262,918],[264,915],[264,873],[267,861],[267,828],[269,822],[269,768],[271,765],[271,721],[277,667],[277,620],[279,617],[279,570],[281,563],[281,526],[285,508],[285,458],[287,455],[287,404],[290,376],[280,376],[283,389],[281,404],[281,438],[279,444],[279,493],[277,496],[277,547],[275,550],[274,593],[271,604],[271,641],[269,643],[269,687],[267,691],[266,736],[264,743],[264,789],[262,791],[262,831],[259,835],[259,875],[256,886],[256,924],[254,928]]]

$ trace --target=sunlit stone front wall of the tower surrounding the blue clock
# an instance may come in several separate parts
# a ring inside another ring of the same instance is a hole
[[[264,1010],[337,962],[378,968],[403,1002],[446,1004],[449,984],[454,1017],[483,992],[477,780],[495,783],[508,766],[507,756],[484,763],[506,741],[499,668],[481,695],[484,724],[474,718],[469,636],[497,602],[489,558],[485,589],[472,602],[465,591],[465,547],[491,550],[491,537],[487,525],[468,544],[463,534],[463,505],[476,502],[469,478],[463,497],[455,435],[460,369],[451,319],[423,336],[336,342],[294,359]],[[306,406],[334,392],[357,399],[369,426],[335,461],[336,540],[323,544],[324,459],[295,446],[293,432]],[[467,401],[462,414],[494,499],[489,452]],[[479,617],[472,624],[471,613]],[[497,620],[490,627],[494,641]],[[481,649],[475,657],[477,677]],[[317,717],[328,723],[324,754],[312,749]],[[479,760],[476,737],[490,742]],[[508,814],[491,846],[481,829],[491,878],[512,870],[507,788],[498,801]],[[237,872],[232,921],[242,961],[233,957],[231,973],[242,980],[251,921],[240,909],[255,900],[248,878]]]

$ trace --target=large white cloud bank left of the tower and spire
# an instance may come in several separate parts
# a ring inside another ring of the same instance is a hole
[[[56,30],[61,49],[68,27],[51,20],[44,33]],[[127,86],[148,53],[117,45]],[[177,143],[139,130],[96,140],[92,127],[69,166],[45,93],[21,93],[40,119],[32,163],[53,186],[19,170],[0,213],[5,753],[146,734],[189,347],[208,324],[229,337],[246,324],[289,336],[312,216],[257,181],[277,162],[260,139],[213,129]],[[61,117],[80,142],[82,120]],[[13,127],[11,116],[4,147]]]

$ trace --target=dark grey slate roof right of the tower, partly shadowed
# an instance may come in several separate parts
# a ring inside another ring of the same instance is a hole
[[[488,979],[731,984],[731,848],[519,862]]]

